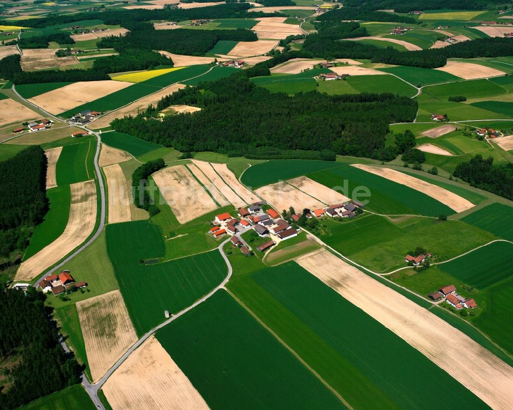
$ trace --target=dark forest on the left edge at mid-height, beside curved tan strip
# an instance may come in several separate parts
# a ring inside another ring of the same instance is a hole
[[[47,160],[34,145],[0,162],[0,256],[25,249],[32,228],[48,210],[46,197]]]

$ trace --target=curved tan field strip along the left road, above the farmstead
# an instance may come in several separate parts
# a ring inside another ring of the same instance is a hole
[[[81,245],[96,223],[96,185],[93,180],[70,185],[71,205],[60,237],[23,262],[15,280],[32,280]]]

